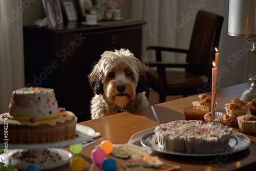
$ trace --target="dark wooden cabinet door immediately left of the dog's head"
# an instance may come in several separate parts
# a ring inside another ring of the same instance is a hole
[[[62,36],[61,87],[62,104],[76,115],[86,113],[90,118],[92,91],[88,75],[94,62],[103,52],[103,34],[82,34]]]

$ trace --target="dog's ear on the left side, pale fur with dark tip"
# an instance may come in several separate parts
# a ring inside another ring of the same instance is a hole
[[[100,70],[100,63],[93,66],[91,74],[88,75],[89,84],[92,91],[97,95],[103,95],[103,83],[101,82],[102,71]]]

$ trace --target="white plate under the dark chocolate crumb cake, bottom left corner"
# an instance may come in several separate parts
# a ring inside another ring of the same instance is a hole
[[[33,160],[33,163],[31,162],[23,162],[22,165],[14,165],[15,168],[17,169],[24,169],[26,168],[27,166],[30,166],[30,165],[35,165],[37,167],[39,167],[39,169],[50,169],[50,168],[56,168],[56,167],[60,167],[62,165],[65,165],[65,164],[68,164],[72,158],[72,154],[64,149],[58,149],[58,148],[50,148],[50,150],[54,150],[56,151],[60,156],[61,156],[61,159],[60,160],[57,160],[56,162],[53,162],[53,161],[49,161],[49,159],[46,159],[44,160],[45,162],[44,163],[41,163],[39,160]],[[19,150],[18,149],[14,149],[12,151],[10,151],[8,153],[8,164],[12,164],[11,163],[11,156],[18,152]],[[5,160],[5,153],[0,155],[0,162],[6,162]]]

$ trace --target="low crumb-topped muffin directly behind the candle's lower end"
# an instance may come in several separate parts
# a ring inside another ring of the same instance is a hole
[[[226,113],[223,113],[223,112],[215,112],[215,122],[219,122],[223,125],[230,126],[232,121],[234,120],[234,116],[226,114],[226,115],[228,115],[228,119],[225,119],[225,118],[223,118],[223,116],[225,114]],[[204,120],[205,120],[205,122],[212,122],[211,112],[204,115]]]

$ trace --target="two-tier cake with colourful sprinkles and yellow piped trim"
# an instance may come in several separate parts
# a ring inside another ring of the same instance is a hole
[[[57,142],[76,136],[76,122],[72,112],[58,108],[53,89],[20,88],[12,92],[9,112],[0,115],[0,136],[8,123],[9,143]]]

